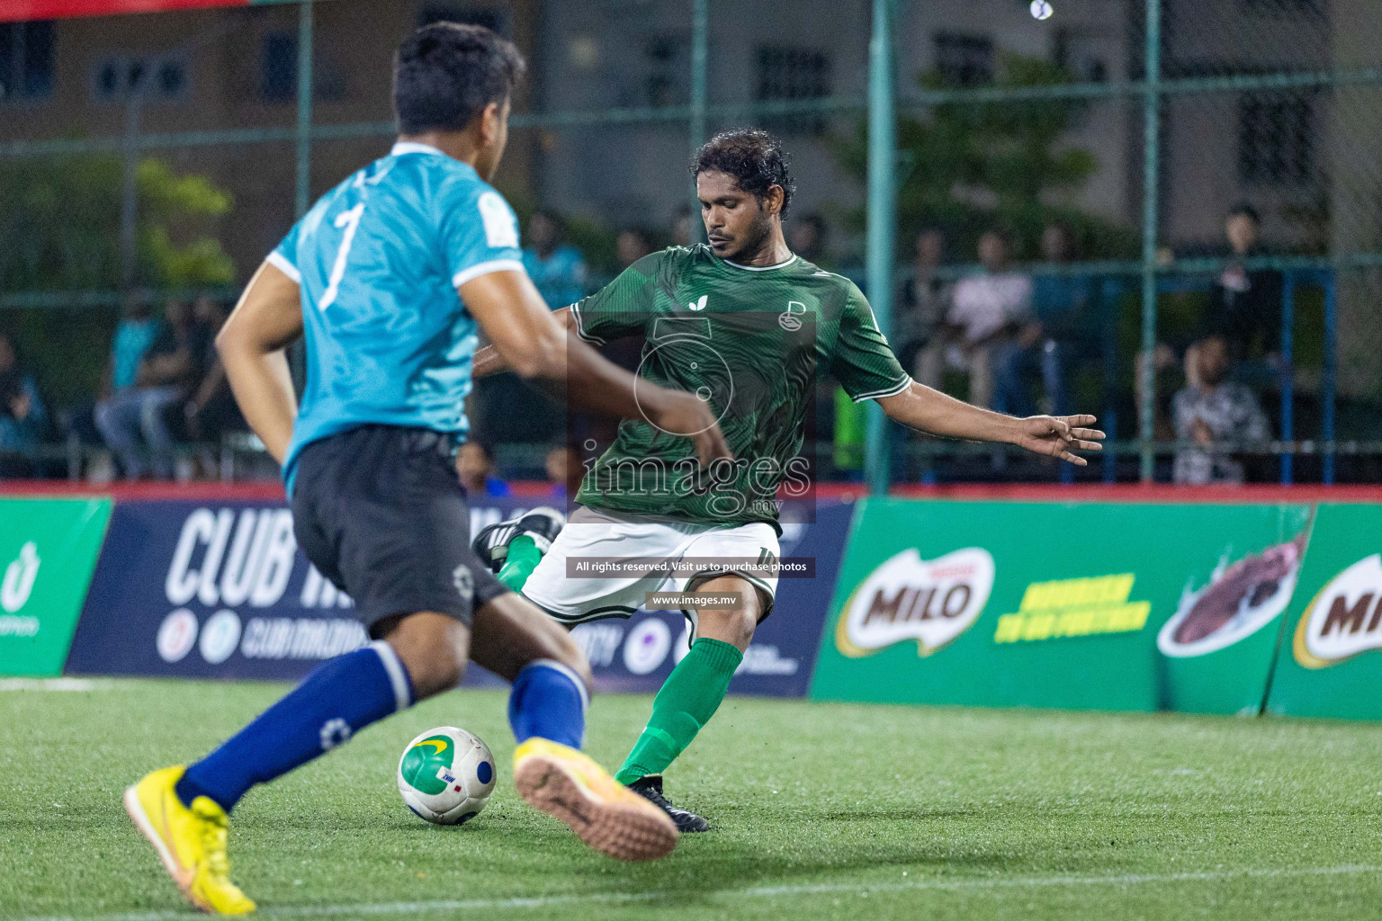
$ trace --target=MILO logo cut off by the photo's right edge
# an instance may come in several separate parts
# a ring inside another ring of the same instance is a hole
[[[1382,554],[1329,580],[1296,626],[1294,652],[1306,668],[1327,668],[1382,649]]]

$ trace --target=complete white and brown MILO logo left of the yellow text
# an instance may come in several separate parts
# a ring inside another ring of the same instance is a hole
[[[846,656],[868,656],[916,641],[930,656],[978,619],[994,590],[994,556],[966,547],[937,559],[908,548],[869,573],[844,602],[835,645]]]

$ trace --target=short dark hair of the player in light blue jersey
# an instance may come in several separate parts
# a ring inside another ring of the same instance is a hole
[[[503,104],[527,68],[518,48],[485,26],[423,26],[394,57],[398,130],[460,131],[491,102]]]

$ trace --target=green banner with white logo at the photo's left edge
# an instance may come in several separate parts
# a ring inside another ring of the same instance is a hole
[[[61,674],[111,507],[0,498],[0,675]]]

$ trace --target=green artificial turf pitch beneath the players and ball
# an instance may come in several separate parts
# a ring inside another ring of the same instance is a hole
[[[282,686],[0,682],[0,918],[153,921],[185,909],[120,808]],[[668,776],[713,817],[621,864],[520,802],[504,697],[455,692],[261,787],[235,878],[293,918],[1375,918],[1382,726],[730,699]],[[598,697],[616,765],[647,697]],[[460,828],[413,817],[404,744],[437,725],[499,758]]]

